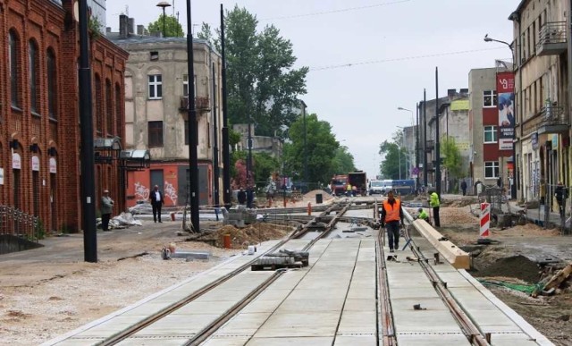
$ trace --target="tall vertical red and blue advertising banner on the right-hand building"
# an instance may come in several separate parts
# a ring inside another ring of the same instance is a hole
[[[497,73],[499,102],[499,150],[511,150],[515,136],[515,75]]]

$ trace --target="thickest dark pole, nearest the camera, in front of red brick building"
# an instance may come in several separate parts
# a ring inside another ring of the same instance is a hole
[[[88,0],[80,0],[80,169],[83,250],[86,262],[97,262],[95,155],[89,65]]]

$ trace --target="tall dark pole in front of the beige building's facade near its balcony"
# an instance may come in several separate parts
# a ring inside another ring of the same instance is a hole
[[[187,69],[189,71],[189,201],[190,224],[194,232],[200,232],[198,224],[198,126],[195,109],[195,66],[190,0],[187,0]]]

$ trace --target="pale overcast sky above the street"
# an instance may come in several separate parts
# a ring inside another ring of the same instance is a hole
[[[156,21],[160,0],[106,2],[107,26],[118,31],[119,14],[136,25]],[[186,29],[186,1],[168,0],[167,13],[180,13]],[[219,26],[220,4],[245,7],[260,27],[273,24],[290,39],[297,66],[308,66],[307,112],[332,124],[358,169],[379,172],[379,146],[397,126],[413,121],[416,102],[447,89],[467,88],[472,68],[509,60],[510,50],[483,38],[510,42],[508,20],[520,0],[192,0],[192,22]],[[176,15],[176,14],[175,14]],[[196,30],[200,30],[197,26]]]

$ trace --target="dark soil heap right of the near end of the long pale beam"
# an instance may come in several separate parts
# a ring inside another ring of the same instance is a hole
[[[540,279],[539,267],[522,255],[501,257],[473,274],[479,277],[514,277],[526,283],[537,283]]]

